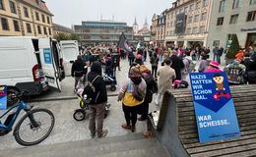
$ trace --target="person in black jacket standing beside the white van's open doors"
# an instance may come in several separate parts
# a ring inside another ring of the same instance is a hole
[[[78,55],[77,60],[73,63],[71,68],[71,76],[75,78],[75,90],[77,88],[78,81],[87,74],[87,71],[86,63],[83,61],[82,56]]]

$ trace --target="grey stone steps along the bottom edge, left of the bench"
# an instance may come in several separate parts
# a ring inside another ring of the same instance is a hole
[[[95,157],[104,155],[110,157],[111,155],[120,156],[120,154],[147,157],[154,157],[156,154],[160,157],[167,156],[165,149],[156,138],[147,139],[141,133],[1,151],[2,156],[8,157],[9,154],[19,157]]]

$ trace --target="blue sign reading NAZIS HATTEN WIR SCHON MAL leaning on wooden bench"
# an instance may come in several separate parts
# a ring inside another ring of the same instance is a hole
[[[191,73],[189,77],[200,142],[240,136],[226,74]]]

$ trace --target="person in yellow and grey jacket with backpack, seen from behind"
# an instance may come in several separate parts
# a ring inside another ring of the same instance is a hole
[[[140,74],[140,68],[138,66],[132,67],[129,72],[129,79],[122,86],[118,95],[118,101],[122,101],[126,120],[126,124],[121,125],[123,129],[135,131],[137,114],[142,110],[146,87],[146,82]]]

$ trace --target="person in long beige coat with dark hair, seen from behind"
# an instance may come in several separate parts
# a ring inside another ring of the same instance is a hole
[[[164,92],[168,89],[171,89],[172,86],[172,80],[176,78],[175,71],[170,67],[171,66],[171,60],[166,59],[164,61],[165,65],[160,67],[158,70],[158,97],[155,100],[155,104],[157,106],[160,106],[161,98]]]

